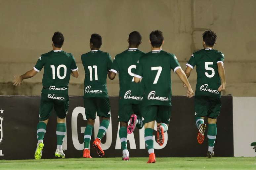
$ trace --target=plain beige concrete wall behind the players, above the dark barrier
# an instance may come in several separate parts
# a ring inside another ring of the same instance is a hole
[[[112,58],[127,49],[131,31],[142,34],[140,49],[150,50],[149,33],[163,31],[163,49],[174,53],[185,69],[193,51],[202,48],[201,34],[212,29],[215,49],[225,54],[227,89],[224,95],[256,96],[255,0],[0,0],[0,95],[40,95],[43,71],[13,87],[16,74],[35,65],[52,50],[51,37],[61,31],[63,50],[71,52],[79,78],[71,78],[70,95],[83,95],[81,54],[89,51],[92,33],[103,37],[101,50]],[[195,88],[196,72],[190,82]],[[172,75],[173,95],[186,90]],[[118,95],[118,77],[107,80],[109,95]]]

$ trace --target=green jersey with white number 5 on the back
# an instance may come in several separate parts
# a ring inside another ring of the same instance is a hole
[[[217,64],[223,62],[224,54],[211,48],[201,49],[192,54],[186,65],[192,69],[196,66],[195,96],[221,97],[218,91],[221,80]]]

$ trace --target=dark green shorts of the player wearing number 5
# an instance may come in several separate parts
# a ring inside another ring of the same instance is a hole
[[[221,110],[221,99],[208,96],[195,96],[195,117],[207,116],[217,119]]]

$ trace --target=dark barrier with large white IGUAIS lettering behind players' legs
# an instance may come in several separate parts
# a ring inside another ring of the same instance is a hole
[[[0,96],[0,159],[33,159],[36,148],[36,125],[38,122],[39,96]],[[110,97],[111,122],[107,135],[102,140],[105,157],[121,157],[121,144],[118,136],[118,97]],[[194,99],[184,96],[174,96],[172,102],[172,117],[169,126],[168,140],[160,147],[154,142],[157,157],[187,157],[206,156],[206,140],[199,145],[196,140],[197,129],[194,123]],[[218,133],[215,143],[216,156],[234,156],[233,150],[233,105],[232,96],[222,97],[223,107],[218,118]],[[83,132],[87,125],[83,98],[69,98],[67,114],[67,133],[64,149],[67,158],[82,157]],[[96,118],[92,141],[97,134],[99,117]],[[42,158],[54,158],[56,150],[56,116],[52,113],[44,138]],[[156,135],[156,131],[154,131]],[[155,140],[156,141],[156,140]],[[128,135],[128,149],[131,157],[148,156],[145,149],[144,128],[136,129]],[[98,157],[91,146],[91,156]]]

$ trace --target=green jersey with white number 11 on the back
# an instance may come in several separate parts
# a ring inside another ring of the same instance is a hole
[[[107,72],[112,64],[110,55],[101,50],[92,50],[82,54],[81,59],[85,71],[84,97],[108,97]]]

